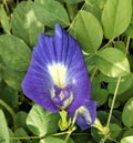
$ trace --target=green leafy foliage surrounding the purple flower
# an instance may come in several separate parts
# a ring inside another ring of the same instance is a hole
[[[98,120],[68,143],[133,142],[133,1],[0,0],[0,142],[66,143],[59,114],[28,100],[21,81],[38,34],[60,23],[81,44]]]

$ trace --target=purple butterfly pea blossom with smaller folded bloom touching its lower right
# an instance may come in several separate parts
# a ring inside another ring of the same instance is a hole
[[[81,129],[96,116],[91,82],[80,44],[60,25],[54,35],[39,34],[30,67],[22,81],[23,93],[50,112],[65,110]]]

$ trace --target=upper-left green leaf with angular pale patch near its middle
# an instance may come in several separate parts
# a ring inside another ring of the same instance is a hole
[[[43,32],[43,24],[38,20],[31,1],[23,1],[17,6],[11,19],[11,28],[14,35],[23,39],[33,47],[38,41],[38,34]]]

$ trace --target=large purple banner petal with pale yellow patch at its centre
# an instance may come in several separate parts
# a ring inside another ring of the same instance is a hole
[[[73,101],[68,111],[75,111],[90,99],[91,83],[81,48],[59,24],[54,35],[39,35],[22,89],[32,101],[58,112],[60,109],[51,99],[54,85],[61,89],[71,85]]]

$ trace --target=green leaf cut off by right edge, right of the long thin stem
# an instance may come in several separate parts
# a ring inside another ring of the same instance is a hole
[[[122,122],[125,126],[133,126],[133,98],[131,98],[124,105]]]

